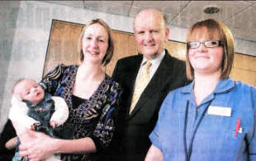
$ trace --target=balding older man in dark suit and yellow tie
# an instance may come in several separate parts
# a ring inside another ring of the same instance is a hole
[[[186,83],[185,63],[164,50],[169,29],[161,12],[145,9],[134,21],[138,55],[118,60],[112,78],[124,88],[114,147],[116,160],[144,160],[149,134],[168,92]]]

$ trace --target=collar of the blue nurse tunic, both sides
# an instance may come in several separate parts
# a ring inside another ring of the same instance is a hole
[[[193,80],[192,83],[185,86],[181,90],[181,92],[191,93],[193,91],[194,83],[195,83],[195,81]],[[220,79],[213,92],[214,93],[228,92],[232,88],[235,88],[235,81],[233,81],[231,78]]]

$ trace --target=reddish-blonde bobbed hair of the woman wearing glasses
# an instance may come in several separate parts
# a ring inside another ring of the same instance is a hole
[[[195,23],[187,32],[187,42],[190,42],[193,39],[193,32],[197,31],[197,29],[201,29],[201,27],[206,27],[208,35],[212,37],[212,34],[218,33],[220,41],[223,47],[223,59],[221,63],[221,75],[220,79],[228,78],[230,75],[230,71],[233,65],[234,59],[234,38],[233,35],[222,22],[216,21],[214,19],[207,19],[204,21],[198,21]],[[200,33],[199,33],[200,34]],[[187,78],[192,80],[194,78],[194,69],[189,62],[188,51],[186,53],[186,72]]]

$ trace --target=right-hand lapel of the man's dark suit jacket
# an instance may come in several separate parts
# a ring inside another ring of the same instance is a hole
[[[147,102],[150,99],[150,97],[154,95],[155,92],[158,92],[165,85],[165,82],[168,81],[168,77],[170,77],[168,71],[172,70],[170,69],[171,65],[169,64],[171,56],[168,54],[167,50],[165,51],[166,54],[164,55],[164,59],[159,65],[159,68],[154,73],[153,78],[151,78],[144,92],[141,93],[139,101],[135,105],[134,110],[131,111],[128,118],[135,116],[135,113],[145,105],[145,102]]]

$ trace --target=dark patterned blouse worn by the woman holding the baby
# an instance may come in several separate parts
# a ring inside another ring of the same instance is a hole
[[[116,108],[122,88],[106,74],[92,97],[80,99],[74,106],[73,83],[78,65],[60,64],[40,82],[45,92],[63,97],[69,107],[69,118],[64,125],[74,128],[74,139],[89,137],[97,147],[96,154],[62,154],[62,160],[96,160],[111,143],[116,124]]]

